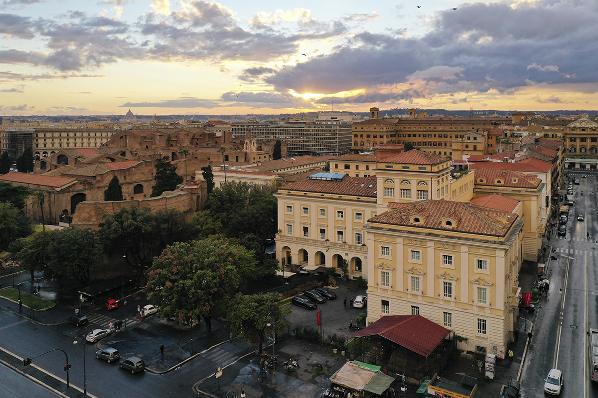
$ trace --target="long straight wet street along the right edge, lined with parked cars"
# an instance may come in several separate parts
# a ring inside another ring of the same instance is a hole
[[[569,171],[569,175],[580,184],[573,186],[575,205],[570,206],[566,236],[554,236],[556,231],[551,229],[550,297],[537,304],[521,375],[524,397],[544,395],[544,378],[551,368],[563,371],[562,397],[598,397],[598,383],[590,381],[587,338],[588,328],[598,328],[597,174]],[[584,221],[577,220],[579,214]],[[530,317],[524,311],[521,316]]]

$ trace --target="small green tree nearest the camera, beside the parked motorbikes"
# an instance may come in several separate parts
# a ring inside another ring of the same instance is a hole
[[[282,306],[279,293],[237,294],[228,305],[227,325],[240,340],[260,344],[260,353],[267,337],[281,333],[291,324],[286,316],[291,308]],[[268,326],[270,324],[270,326]]]

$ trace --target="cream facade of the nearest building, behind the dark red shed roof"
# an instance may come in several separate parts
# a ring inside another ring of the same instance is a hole
[[[460,349],[505,357],[517,319],[522,226],[517,219],[505,236],[483,236],[370,220],[367,321],[420,314],[465,338]]]

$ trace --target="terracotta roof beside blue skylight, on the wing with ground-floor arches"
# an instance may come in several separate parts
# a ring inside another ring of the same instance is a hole
[[[283,191],[318,192],[333,195],[362,196],[365,198],[376,198],[377,181],[376,176],[371,177],[349,177],[342,181],[325,180],[303,180],[297,183],[286,184],[279,189]]]

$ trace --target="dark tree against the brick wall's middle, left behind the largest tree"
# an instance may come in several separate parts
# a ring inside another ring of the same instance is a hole
[[[121,208],[104,215],[98,236],[108,252],[123,253],[141,276],[154,255],[155,216],[149,207]]]

